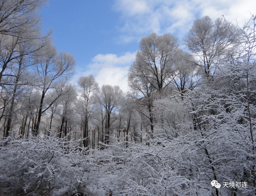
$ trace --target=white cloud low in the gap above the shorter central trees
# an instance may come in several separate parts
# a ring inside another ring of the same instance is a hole
[[[127,52],[123,56],[116,54],[98,54],[87,65],[85,72],[78,70],[72,82],[76,83],[80,76],[93,74],[100,86],[103,84],[119,85],[123,91],[127,91],[127,70],[135,59],[135,52]]]

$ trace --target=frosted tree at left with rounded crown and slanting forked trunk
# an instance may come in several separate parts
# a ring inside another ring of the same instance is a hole
[[[57,54],[55,46],[51,43],[39,51],[38,58],[35,60],[34,71],[37,73],[36,86],[40,88],[42,96],[40,99],[37,123],[34,129],[35,135],[39,133],[42,114],[51,106],[50,104],[47,108],[43,109],[45,94],[49,89],[55,88],[59,82],[67,82],[74,74],[75,64],[76,62],[73,55],[67,52]],[[63,91],[64,90],[59,91],[58,97],[63,95]]]

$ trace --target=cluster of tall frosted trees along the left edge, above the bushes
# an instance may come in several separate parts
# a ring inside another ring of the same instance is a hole
[[[1,3],[1,130],[3,137],[19,133],[40,134],[42,116],[54,102],[69,92],[68,80],[75,59],[57,52],[51,31],[41,33],[37,11],[45,1],[2,1]],[[54,93],[46,106],[47,93]],[[32,121],[32,122],[31,122]],[[29,128],[30,127],[30,128]]]

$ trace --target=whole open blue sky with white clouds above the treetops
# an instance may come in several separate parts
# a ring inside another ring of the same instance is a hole
[[[99,85],[127,91],[127,70],[143,36],[171,33],[182,44],[198,17],[224,15],[242,26],[250,12],[256,14],[255,0],[49,0],[41,15],[57,50],[75,56],[73,83],[93,74]]]

